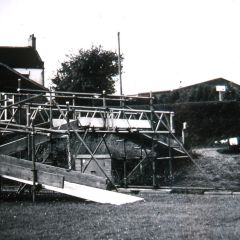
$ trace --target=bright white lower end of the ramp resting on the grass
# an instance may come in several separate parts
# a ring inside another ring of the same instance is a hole
[[[68,181],[64,182],[64,188],[56,188],[47,185],[44,185],[43,187],[52,191],[68,194],[74,197],[79,197],[98,203],[122,205],[143,201],[143,198],[140,197],[93,188],[89,186],[71,183]]]

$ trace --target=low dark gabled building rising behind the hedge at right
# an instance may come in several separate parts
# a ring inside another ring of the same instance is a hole
[[[200,102],[218,101],[220,93],[217,91],[223,87],[221,100],[239,100],[240,85],[224,78],[216,78],[194,85],[173,89],[171,91],[152,92],[157,103],[181,103],[181,102]],[[139,96],[149,96],[149,92],[139,93]]]

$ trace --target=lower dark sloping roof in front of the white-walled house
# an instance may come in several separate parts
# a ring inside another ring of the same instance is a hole
[[[21,79],[21,88],[34,90],[48,90],[44,86],[23,76],[19,72],[10,68],[6,64],[0,63],[0,91],[16,92],[18,88],[18,79]]]

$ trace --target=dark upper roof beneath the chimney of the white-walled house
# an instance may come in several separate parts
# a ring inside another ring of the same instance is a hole
[[[0,62],[11,68],[44,68],[44,62],[33,47],[0,47]]]

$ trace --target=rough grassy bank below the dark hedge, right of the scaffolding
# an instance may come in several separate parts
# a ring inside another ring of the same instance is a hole
[[[194,164],[183,165],[178,169],[174,185],[240,189],[240,154],[224,154],[221,148],[198,148],[193,153],[197,156]]]

